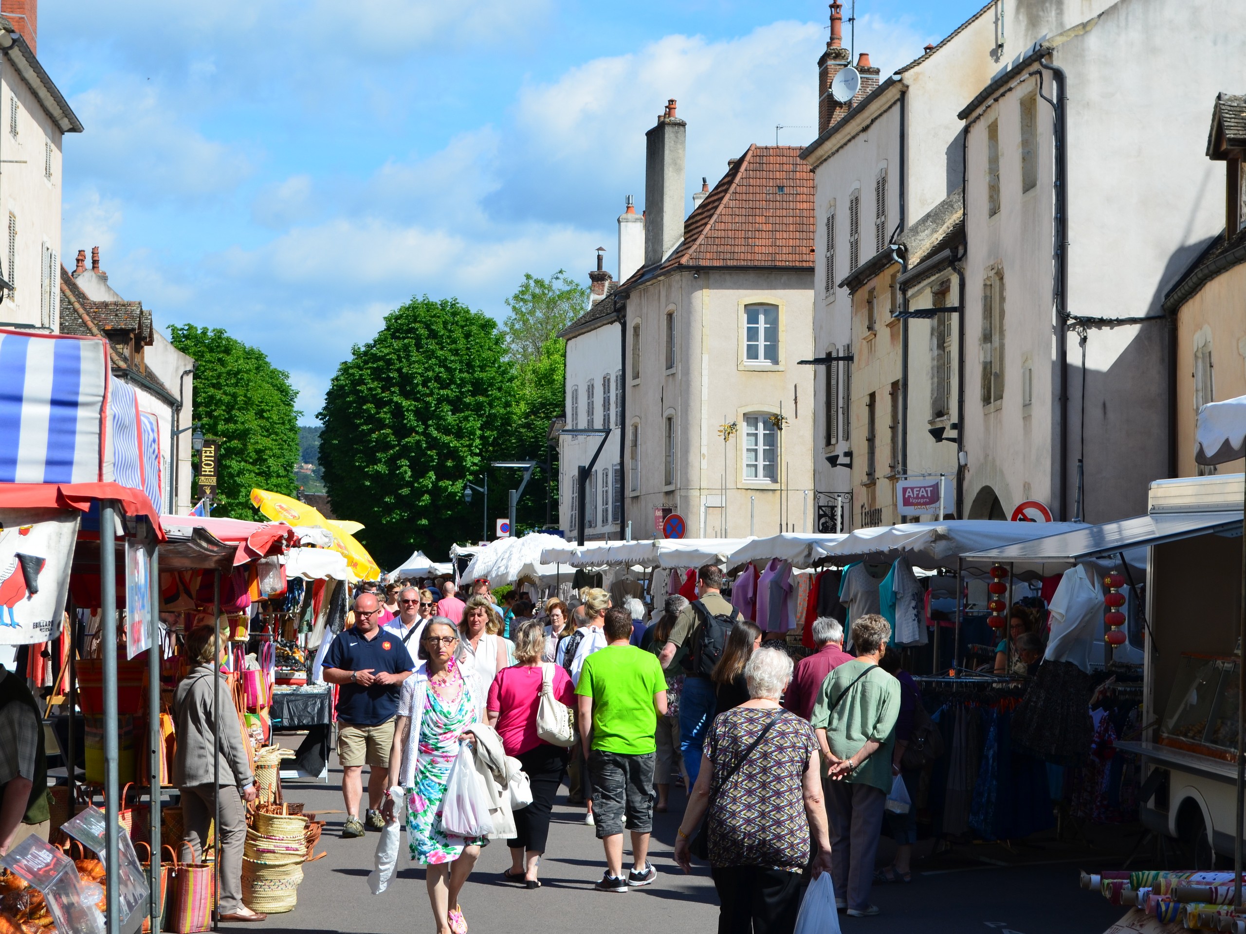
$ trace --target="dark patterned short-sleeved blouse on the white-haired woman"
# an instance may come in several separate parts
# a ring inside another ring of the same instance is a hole
[[[775,712],[735,707],[715,717],[705,737],[705,755],[714,763],[714,803],[706,818],[711,866],[802,869],[809,862],[804,776],[817,740],[805,720],[778,711],[761,745],[720,787]]]

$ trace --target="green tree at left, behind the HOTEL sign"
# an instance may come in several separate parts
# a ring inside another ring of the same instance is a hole
[[[194,420],[221,438],[213,513],[253,519],[253,487],[294,496],[302,412],[289,374],[221,328],[169,325],[169,340],[194,357]]]

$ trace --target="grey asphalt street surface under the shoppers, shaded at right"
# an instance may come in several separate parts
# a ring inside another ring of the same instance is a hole
[[[287,801],[302,801],[308,811],[341,811],[341,772],[330,766],[329,785],[285,782]],[[705,867],[684,875],[672,859],[678,808],[657,814],[652,849],[658,882],[627,894],[596,892],[592,885],[604,868],[593,828],[582,823],[582,808],[559,797],[551,827],[549,851],[541,866],[543,887],[527,890],[501,882],[510,851],[501,841],[481,853],[461,903],[475,934],[486,932],[541,932],[541,934],[597,934],[640,932],[675,934],[715,932],[718,900]],[[329,822],[318,851],[328,856],[304,867],[298,907],[272,915],[264,924],[223,925],[267,934],[304,932],[369,932],[374,934],[432,934],[435,925],[424,887],[424,870],[407,866],[405,847],[390,889],[373,895],[371,870],[376,834],[340,839],[343,814],[324,814]],[[1002,863],[1002,864],[998,864]],[[1024,863],[1018,866],[1018,863]],[[1119,864],[1119,861],[1115,863]],[[1078,888],[1079,868],[1101,868],[1094,856],[1078,857],[1055,846],[1004,848],[967,847],[917,864],[907,885],[878,885],[875,918],[840,915],[845,934],[1100,934],[1124,912],[1098,893]]]

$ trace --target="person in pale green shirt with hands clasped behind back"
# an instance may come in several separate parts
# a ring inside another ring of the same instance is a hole
[[[852,624],[857,656],[822,682],[811,721],[830,763],[826,795],[835,895],[854,918],[878,914],[877,905],[870,904],[870,884],[900,716],[900,681],[878,667],[890,636],[891,623],[877,614]]]

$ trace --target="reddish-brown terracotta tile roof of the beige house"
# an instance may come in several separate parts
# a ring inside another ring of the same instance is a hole
[[[814,223],[814,173],[800,147],[754,143],[688,215],[662,269],[812,269]]]

